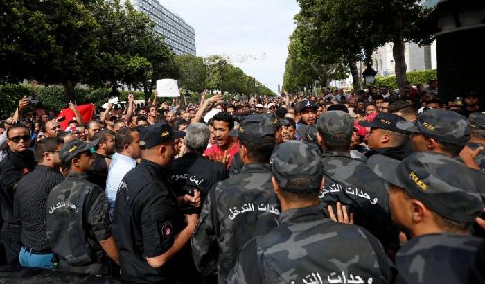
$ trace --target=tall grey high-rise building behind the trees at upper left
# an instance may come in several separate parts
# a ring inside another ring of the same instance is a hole
[[[144,12],[155,22],[155,32],[176,55],[195,55],[195,30],[182,17],[170,12],[158,0],[130,0],[135,10]]]

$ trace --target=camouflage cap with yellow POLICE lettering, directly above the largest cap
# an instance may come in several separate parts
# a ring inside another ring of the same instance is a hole
[[[416,121],[400,121],[396,127],[452,145],[465,145],[470,140],[466,117],[444,109],[428,109]]]

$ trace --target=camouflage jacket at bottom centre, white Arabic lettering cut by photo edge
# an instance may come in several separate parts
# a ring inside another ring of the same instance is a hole
[[[228,283],[389,283],[395,269],[365,229],[333,222],[318,206],[281,213],[280,226],[245,245]]]

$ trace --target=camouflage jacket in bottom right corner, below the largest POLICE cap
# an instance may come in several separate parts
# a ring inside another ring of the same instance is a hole
[[[483,239],[452,233],[412,238],[396,256],[396,283],[471,283],[470,264]]]

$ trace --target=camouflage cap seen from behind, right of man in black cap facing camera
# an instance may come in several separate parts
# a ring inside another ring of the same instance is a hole
[[[325,141],[332,143],[349,143],[353,134],[353,119],[350,114],[332,110],[321,114],[317,121],[318,132]],[[337,138],[337,134],[345,134]]]

